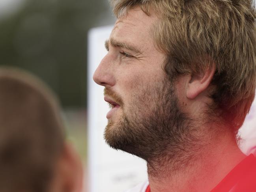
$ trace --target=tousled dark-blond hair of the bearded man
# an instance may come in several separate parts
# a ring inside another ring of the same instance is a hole
[[[159,21],[155,44],[170,77],[216,68],[215,114],[241,127],[256,89],[256,13],[252,0],[110,0],[116,17],[140,6]]]

